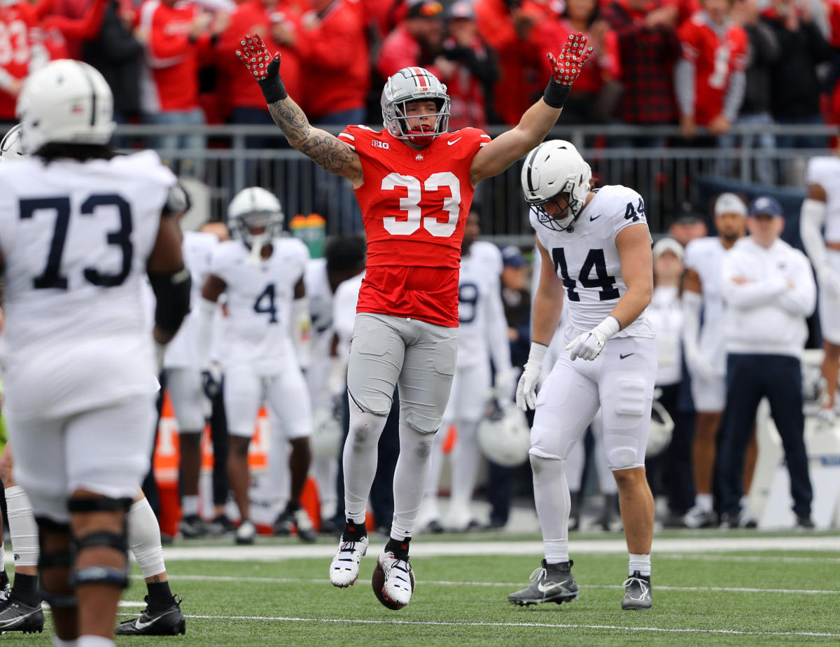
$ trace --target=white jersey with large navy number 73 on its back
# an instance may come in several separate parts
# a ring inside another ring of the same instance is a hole
[[[155,392],[143,284],[175,183],[148,150],[0,165],[0,339],[14,416],[62,416]]]

